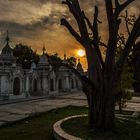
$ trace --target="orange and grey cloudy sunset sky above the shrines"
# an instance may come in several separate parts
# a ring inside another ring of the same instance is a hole
[[[103,22],[106,20],[103,0],[80,0],[80,3],[90,19],[93,16],[93,6],[98,5],[100,19]],[[129,13],[140,13],[140,0],[129,6]],[[3,48],[8,29],[12,46],[23,43],[40,53],[45,42],[48,53],[57,52],[62,56],[66,52],[68,56],[78,57],[77,51],[82,47],[60,25],[60,19],[64,16],[76,28],[72,16],[67,7],[61,4],[61,0],[0,0],[0,49]],[[100,26],[104,40],[107,38],[105,27],[106,23]],[[81,61],[84,64],[85,58],[81,58]]]

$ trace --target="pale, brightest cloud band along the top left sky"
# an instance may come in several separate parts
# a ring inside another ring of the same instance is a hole
[[[27,24],[39,21],[44,16],[52,13],[64,13],[64,7],[58,2],[43,0],[1,0],[0,20],[15,21],[20,24]]]

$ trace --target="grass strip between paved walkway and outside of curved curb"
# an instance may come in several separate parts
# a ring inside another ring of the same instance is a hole
[[[0,127],[0,140],[53,140],[53,124],[67,116],[87,113],[86,107],[68,106]]]

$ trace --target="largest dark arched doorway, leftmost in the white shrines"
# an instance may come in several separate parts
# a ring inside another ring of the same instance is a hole
[[[13,94],[14,95],[19,95],[20,94],[20,79],[18,77],[16,77],[14,79]]]

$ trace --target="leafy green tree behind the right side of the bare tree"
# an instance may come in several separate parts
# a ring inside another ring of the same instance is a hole
[[[119,59],[123,49],[125,47],[124,34],[118,35],[118,43],[116,50],[116,61]],[[116,96],[117,104],[119,105],[119,111],[122,113],[122,108],[125,106],[127,100],[132,98],[131,89],[133,89],[134,83],[134,68],[133,68],[133,50],[129,53],[124,69],[122,70],[120,81],[118,82],[118,95]]]

